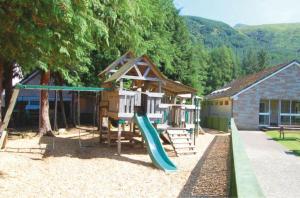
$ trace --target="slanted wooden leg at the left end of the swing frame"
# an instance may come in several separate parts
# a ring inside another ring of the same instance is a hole
[[[2,122],[2,125],[0,126],[0,132],[2,133],[1,139],[0,139],[0,149],[5,148],[5,145],[6,145],[6,142],[7,142],[7,136],[8,135],[4,131],[8,126],[11,114],[14,110],[14,107],[15,107],[15,104],[16,104],[16,101],[17,101],[17,98],[18,98],[18,95],[19,95],[19,91],[20,91],[19,89],[14,89],[13,90],[13,93],[12,93],[12,96],[11,96],[11,99],[10,99],[10,102],[9,102],[9,106],[8,106],[7,111],[5,113],[4,120]]]

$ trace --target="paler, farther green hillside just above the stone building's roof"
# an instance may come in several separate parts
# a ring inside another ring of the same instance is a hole
[[[300,58],[300,23],[239,26],[237,30],[259,42],[272,63]]]

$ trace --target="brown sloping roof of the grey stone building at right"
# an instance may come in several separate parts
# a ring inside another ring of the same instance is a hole
[[[207,95],[206,99],[218,99],[218,98],[224,98],[224,97],[232,97],[235,95],[238,95],[241,91],[250,88],[251,86],[254,86],[256,83],[259,83],[268,77],[276,74],[277,72],[280,72],[287,67],[293,65],[293,64],[300,64],[298,61],[291,61],[289,63],[279,64],[275,65],[273,67],[268,67],[258,73],[250,74],[241,78],[238,78],[236,80],[233,80],[232,82],[226,84],[222,88],[213,91],[209,95]]]

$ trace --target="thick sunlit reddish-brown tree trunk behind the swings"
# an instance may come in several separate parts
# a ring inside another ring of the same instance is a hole
[[[41,72],[41,85],[48,85],[50,82],[50,71]],[[49,93],[41,90],[40,114],[39,114],[39,135],[53,136],[49,118]]]

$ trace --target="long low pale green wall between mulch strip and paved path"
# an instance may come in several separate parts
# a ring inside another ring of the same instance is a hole
[[[234,119],[231,118],[233,171],[237,197],[264,197],[246,154]],[[233,195],[234,196],[234,195]]]

